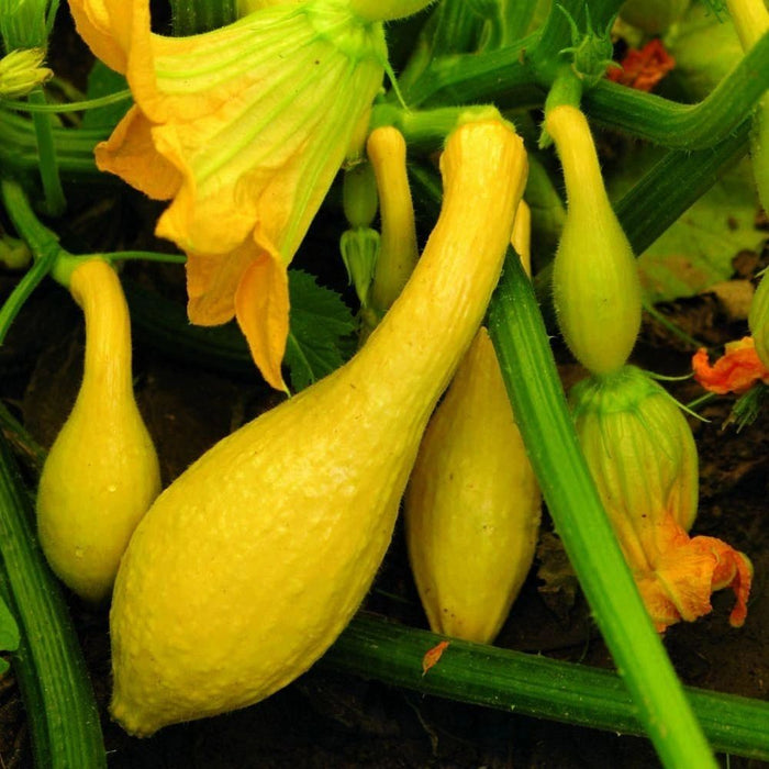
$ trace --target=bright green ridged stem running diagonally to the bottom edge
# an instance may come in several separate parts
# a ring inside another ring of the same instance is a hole
[[[714,767],[582,457],[534,291],[509,258],[489,332],[530,459],[593,616],[666,767]]]

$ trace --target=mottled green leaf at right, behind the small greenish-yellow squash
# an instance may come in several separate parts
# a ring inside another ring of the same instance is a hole
[[[638,266],[651,302],[691,297],[727,280],[740,250],[757,249],[755,183],[743,163],[726,174],[642,255]]]

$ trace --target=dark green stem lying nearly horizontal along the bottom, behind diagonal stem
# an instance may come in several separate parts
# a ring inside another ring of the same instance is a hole
[[[422,658],[445,638],[358,614],[321,665],[459,702],[621,734],[643,735],[638,709],[609,670],[452,639],[425,675]],[[769,759],[769,703],[687,688],[716,750]]]

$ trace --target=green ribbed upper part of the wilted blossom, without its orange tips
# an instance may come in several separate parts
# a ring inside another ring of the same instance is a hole
[[[689,531],[696,515],[694,438],[672,397],[647,374],[624,366],[589,377],[571,389],[575,426],[599,494],[623,546],[653,535],[655,520],[670,513]]]

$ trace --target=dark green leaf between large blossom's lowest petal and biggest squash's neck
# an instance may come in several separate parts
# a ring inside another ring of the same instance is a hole
[[[285,363],[291,387],[303,390],[331,374],[353,354],[355,319],[342,297],[313,276],[290,270],[291,326]]]

